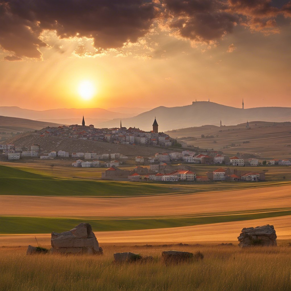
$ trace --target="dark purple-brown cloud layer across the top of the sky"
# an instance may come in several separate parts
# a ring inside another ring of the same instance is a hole
[[[290,16],[290,9],[290,2],[277,8],[271,0],[0,0],[0,46],[10,54],[6,60],[41,59],[41,47],[48,46],[41,35],[48,30],[62,39],[90,38],[102,52],[135,43],[154,28],[211,45],[236,25],[278,33],[276,17]]]

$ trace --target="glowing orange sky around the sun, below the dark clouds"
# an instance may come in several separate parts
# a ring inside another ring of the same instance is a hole
[[[38,47],[39,59],[15,48],[0,50],[0,106],[172,107],[208,98],[234,107],[241,107],[242,98],[245,108],[291,106],[290,19],[278,15],[276,29],[269,32],[235,24],[232,31],[202,42],[151,25],[136,42],[102,53],[96,53],[92,38],[60,38],[49,30],[40,34],[47,46]],[[95,88],[90,100],[78,92],[84,80]]]

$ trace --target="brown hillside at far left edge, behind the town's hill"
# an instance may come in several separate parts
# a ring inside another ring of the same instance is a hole
[[[34,131],[47,126],[57,127],[59,125],[63,124],[0,116],[0,141],[8,139],[19,132]]]

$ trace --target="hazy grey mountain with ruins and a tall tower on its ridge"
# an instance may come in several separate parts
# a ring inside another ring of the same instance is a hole
[[[220,120],[225,125],[243,123],[246,120],[291,121],[291,108],[258,107],[241,109],[214,102],[200,101],[181,107],[160,106],[135,117],[123,119],[122,124],[125,127],[135,126],[144,130],[151,130],[155,116],[159,124],[159,131],[166,131],[205,124],[219,125]],[[102,127],[114,127],[116,124],[118,124],[118,120],[113,119],[102,123]]]

